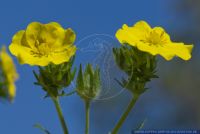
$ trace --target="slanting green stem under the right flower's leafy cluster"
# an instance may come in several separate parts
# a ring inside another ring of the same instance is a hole
[[[138,97],[139,96],[135,96],[135,97],[133,97],[131,99],[130,103],[128,104],[128,107],[125,110],[125,112],[123,113],[123,115],[121,116],[121,118],[119,119],[119,121],[117,122],[117,124],[115,125],[115,127],[113,128],[112,134],[117,134],[117,132],[119,131],[120,127],[122,126],[122,124],[124,123],[124,121],[126,120],[126,118],[128,117],[128,114],[130,113],[131,109],[135,105]]]

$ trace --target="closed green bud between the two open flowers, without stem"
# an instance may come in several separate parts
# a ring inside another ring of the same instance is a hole
[[[93,70],[92,66],[87,64],[83,73],[82,66],[80,65],[76,83],[77,93],[82,99],[85,101],[94,99],[100,92],[100,69],[96,67]]]

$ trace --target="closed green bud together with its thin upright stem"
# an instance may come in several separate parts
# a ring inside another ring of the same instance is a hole
[[[85,134],[89,134],[90,105],[100,92],[100,70],[98,67],[93,69],[91,64],[87,64],[85,70],[80,65],[77,80],[77,94],[85,102]]]

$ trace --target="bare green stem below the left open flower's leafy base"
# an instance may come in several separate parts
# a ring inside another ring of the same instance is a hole
[[[63,132],[64,132],[64,134],[68,134],[67,125],[65,123],[65,119],[64,119],[64,116],[63,116],[63,113],[62,113],[59,98],[58,97],[56,97],[56,98],[52,97],[52,100],[53,100],[54,105],[56,107],[56,111],[58,113],[58,117],[60,119],[60,123],[62,125]]]

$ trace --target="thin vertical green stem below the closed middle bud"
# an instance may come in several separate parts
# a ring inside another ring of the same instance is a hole
[[[85,101],[85,134],[89,134],[90,126],[90,102]]]

